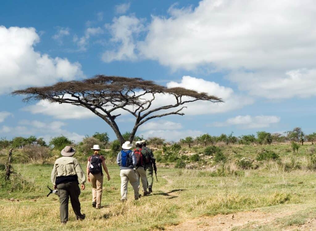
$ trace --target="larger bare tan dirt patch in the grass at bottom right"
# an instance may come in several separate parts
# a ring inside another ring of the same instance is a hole
[[[176,226],[166,227],[169,231],[221,231],[231,230],[234,227],[251,224],[253,229],[258,228],[259,225],[265,225],[276,218],[290,216],[297,212],[297,210],[284,210],[278,213],[263,213],[256,210],[248,212],[239,212],[228,215],[216,215],[213,217],[204,216],[196,219],[188,220]],[[316,222],[316,221],[315,221]],[[302,229],[305,230],[305,229]],[[309,230],[309,229],[308,229]],[[313,229],[314,230],[314,229]]]

